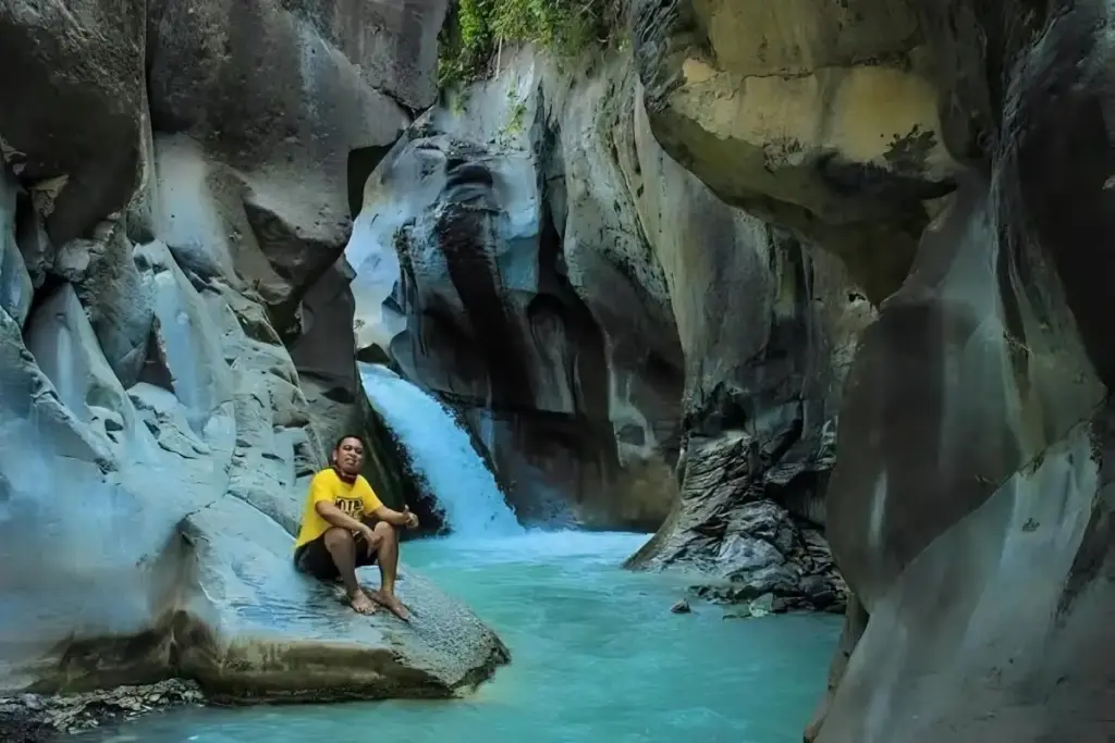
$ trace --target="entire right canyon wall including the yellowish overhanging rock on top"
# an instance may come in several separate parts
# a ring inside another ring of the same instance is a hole
[[[636,18],[666,150],[885,297],[841,408],[855,599],[808,737],[1111,740],[1109,3]]]

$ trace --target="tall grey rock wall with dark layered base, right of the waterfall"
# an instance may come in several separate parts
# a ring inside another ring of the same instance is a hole
[[[874,310],[837,260],[724,204],[663,151],[631,78],[613,68],[600,100],[626,101],[613,141],[669,289],[686,385],[680,497],[629,566],[728,578],[699,590],[718,600],[776,590],[787,608],[838,610],[824,491],[842,382]]]

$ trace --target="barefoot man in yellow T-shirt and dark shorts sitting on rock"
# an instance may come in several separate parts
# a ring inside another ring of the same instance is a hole
[[[399,565],[396,528],[414,529],[418,517],[385,506],[360,475],[363,441],[343,436],[330,457],[332,467],[321,470],[310,482],[302,512],[302,526],[294,542],[295,567],[320,580],[340,578],[349,604],[360,614],[374,614],[382,604],[400,619],[410,613],[395,596]],[[356,569],[379,563],[380,588],[366,593],[356,579]]]

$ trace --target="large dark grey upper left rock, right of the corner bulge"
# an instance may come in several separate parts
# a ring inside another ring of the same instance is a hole
[[[157,236],[174,251],[216,250],[207,271],[235,266],[269,286],[269,302],[297,304],[348,239],[349,154],[389,145],[409,124],[390,95],[415,107],[432,98],[444,12],[444,1],[154,2],[153,124],[188,135],[156,137]],[[385,49],[415,57],[392,66]]]

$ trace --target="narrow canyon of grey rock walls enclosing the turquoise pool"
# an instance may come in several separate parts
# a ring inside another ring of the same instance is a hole
[[[842,615],[806,741],[1115,740],[1115,6],[630,0],[439,76],[475,4],[0,0],[0,697],[514,666],[294,573],[359,432],[419,537]]]

